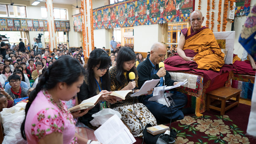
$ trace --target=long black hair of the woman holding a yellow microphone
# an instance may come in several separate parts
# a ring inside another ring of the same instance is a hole
[[[131,60],[136,60],[136,54],[134,53],[134,51],[130,48],[130,47],[123,47],[118,51],[118,55],[116,58],[116,79],[118,81],[119,84],[124,85],[122,83],[122,79],[124,78],[124,69],[123,69],[123,64],[125,61],[131,61]],[[127,74],[129,74],[130,72],[134,72],[135,76],[137,76],[136,73],[136,68],[132,67],[129,71],[127,71]]]

